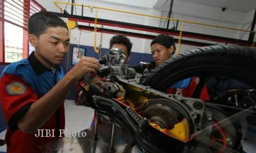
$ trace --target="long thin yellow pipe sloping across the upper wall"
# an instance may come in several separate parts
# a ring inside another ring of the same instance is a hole
[[[180,19],[173,19],[173,18],[167,18],[167,17],[161,17],[161,16],[147,15],[147,14],[135,13],[135,12],[130,12],[130,11],[115,10],[115,9],[109,9],[109,8],[104,8],[104,7],[96,7],[96,6],[90,6],[90,5],[81,5],[81,4],[73,4],[73,3],[65,3],[65,2],[56,2],[56,1],[54,2],[54,4],[55,3],[57,3],[57,4],[66,4],[66,5],[74,5],[74,6],[83,6],[83,7],[89,7],[89,8],[97,8],[97,9],[102,9],[102,10],[109,10],[109,11],[115,11],[115,12],[121,12],[121,13],[127,13],[127,14],[135,14],[135,15],[140,15],[140,16],[167,19],[167,20],[174,20],[174,21],[179,20],[179,21],[183,21],[185,23],[199,24],[199,25],[205,25],[205,26],[208,26],[208,27],[215,27],[215,28],[228,29],[228,30],[234,30],[234,31],[253,32],[253,31],[247,31],[247,30],[242,30],[242,29],[223,27],[223,26],[219,26],[219,25],[211,25],[211,24],[188,21],[188,20],[180,20]]]

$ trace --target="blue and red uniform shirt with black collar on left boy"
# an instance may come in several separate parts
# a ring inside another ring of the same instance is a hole
[[[34,52],[27,58],[11,63],[0,78],[0,104],[8,124],[5,141],[7,152],[41,152],[39,146],[60,137],[59,130],[65,129],[64,103],[40,130],[55,130],[54,136],[36,137],[18,129],[17,122],[33,103],[44,96],[63,78],[64,70],[58,66],[48,69],[35,57]],[[64,101],[63,101],[64,102]]]

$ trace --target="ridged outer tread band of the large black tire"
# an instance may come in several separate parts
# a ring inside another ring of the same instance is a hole
[[[206,47],[200,47],[196,49],[187,50],[184,53],[174,55],[172,58],[166,60],[164,63],[159,65],[152,73],[146,78],[143,85],[151,86],[153,89],[160,90],[161,81],[170,77],[174,73],[178,73],[182,70],[185,64],[191,64],[196,67],[201,66],[203,63],[197,61],[208,61],[208,65],[219,65],[225,66],[225,64],[232,64],[232,67],[243,70],[244,72],[250,73],[256,76],[256,48],[236,45],[212,45]],[[218,59],[220,63],[218,63]],[[223,62],[223,58],[227,59],[227,62]],[[215,60],[213,60],[215,59]],[[190,62],[186,62],[189,61]],[[206,65],[206,64],[205,64]],[[177,69],[181,67],[181,69]]]

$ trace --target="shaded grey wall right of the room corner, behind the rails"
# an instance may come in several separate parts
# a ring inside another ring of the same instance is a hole
[[[162,16],[166,17],[169,11],[169,5],[165,4],[162,9],[163,9]],[[228,27],[228,28],[246,30],[249,26],[246,23],[252,22],[254,10],[248,13],[233,11],[229,9],[222,11],[222,8],[219,8],[219,7],[210,7],[210,6],[184,2],[184,1],[174,1],[172,13],[173,14],[171,17],[175,19],[189,20],[194,22],[219,25],[219,26]],[[166,28],[166,24],[167,23],[165,22],[165,19],[161,19],[160,27]],[[174,26],[176,27],[176,21],[175,23],[173,21],[170,21],[169,28],[172,28]],[[181,23],[179,23],[178,25],[178,29],[180,28],[181,28]],[[235,39],[240,39],[241,35],[244,33],[240,31],[206,27],[205,25],[197,25],[197,24],[190,24],[190,23],[183,23],[183,30],[187,32],[208,34],[208,35],[235,38]],[[249,36],[249,33],[245,33],[243,39],[248,40],[248,36]],[[178,38],[178,37],[175,37],[175,38]],[[224,44],[220,42],[217,43],[214,41],[207,41],[207,40],[200,40],[200,39],[191,39],[191,38],[183,38],[183,39],[211,43],[211,44]],[[197,47],[197,46],[186,46],[181,44],[181,50],[190,49],[190,47]]]

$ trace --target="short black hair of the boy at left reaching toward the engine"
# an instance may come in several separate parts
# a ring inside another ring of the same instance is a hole
[[[69,30],[67,23],[58,16],[47,12],[37,12],[30,16],[28,21],[28,33],[39,37],[49,27],[63,27]]]

